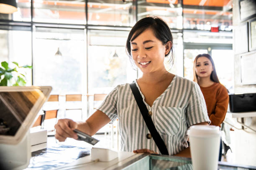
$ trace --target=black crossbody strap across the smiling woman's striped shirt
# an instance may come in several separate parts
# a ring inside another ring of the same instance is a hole
[[[139,92],[136,83],[131,83],[130,87],[137,102],[137,105],[141,111],[141,115],[143,116],[143,119],[146,122],[148,130],[152,138],[154,139],[156,146],[158,147],[162,155],[169,155],[166,145],[162,140],[161,136],[159,135],[159,133],[157,132],[156,127],[151,119],[151,116],[148,115],[148,109],[145,103],[143,102],[143,98],[141,97],[141,93]]]

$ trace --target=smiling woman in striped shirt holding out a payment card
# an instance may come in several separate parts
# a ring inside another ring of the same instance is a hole
[[[126,42],[130,60],[142,72],[138,87],[156,130],[170,155],[190,157],[187,129],[195,124],[210,123],[205,101],[197,83],[173,75],[164,67],[164,58],[172,53],[172,33],[156,17],[139,20]],[[171,55],[172,60],[173,54]],[[143,120],[129,83],[118,85],[108,94],[98,110],[85,122],[62,119],[55,125],[56,139],[77,139],[74,129],[94,135],[118,118],[121,150],[135,153],[160,153]],[[186,149],[187,148],[187,149]]]

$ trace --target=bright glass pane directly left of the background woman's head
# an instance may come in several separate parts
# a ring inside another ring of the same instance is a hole
[[[189,80],[193,80],[194,60],[199,54],[207,54],[207,50],[184,50],[184,77]]]

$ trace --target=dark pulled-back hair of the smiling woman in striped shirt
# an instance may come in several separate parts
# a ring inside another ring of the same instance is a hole
[[[166,42],[168,41],[172,42],[172,32],[168,25],[164,22],[164,20],[158,17],[146,17],[139,20],[131,29],[126,41],[126,52],[129,56],[131,63],[133,63],[133,59],[131,57],[131,41],[133,41],[148,28],[151,28],[153,30],[155,37],[159,39],[163,43],[163,45],[166,44]],[[172,64],[174,62],[173,48],[174,47],[172,42],[171,50],[168,52],[168,54],[165,55],[165,57],[167,57],[172,51],[170,59],[168,60],[168,62],[171,62]]]

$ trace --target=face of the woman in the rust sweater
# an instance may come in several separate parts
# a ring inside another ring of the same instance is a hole
[[[212,71],[212,62],[207,57],[197,58],[195,72],[198,77],[210,77]]]

